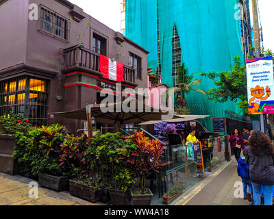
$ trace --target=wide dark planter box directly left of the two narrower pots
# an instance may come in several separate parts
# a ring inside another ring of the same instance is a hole
[[[101,199],[102,188],[92,188],[88,185],[81,185],[77,183],[77,179],[70,179],[69,192],[71,192],[73,196],[96,203]]]

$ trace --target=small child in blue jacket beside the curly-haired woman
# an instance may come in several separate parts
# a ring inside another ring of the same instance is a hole
[[[242,185],[244,190],[244,199],[248,199],[248,201],[252,201],[252,188],[251,181],[249,179],[249,165],[245,163],[245,157],[240,157],[237,165],[238,176],[242,178]],[[249,192],[247,192],[247,186],[249,188]]]

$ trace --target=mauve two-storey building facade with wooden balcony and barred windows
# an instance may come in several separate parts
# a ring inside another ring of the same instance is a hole
[[[66,0],[0,0],[0,116],[10,110],[34,125],[84,121],[65,112],[100,103],[115,90],[103,78],[100,54],[123,64],[123,88],[147,88],[147,50]],[[11,28],[12,27],[12,28]]]

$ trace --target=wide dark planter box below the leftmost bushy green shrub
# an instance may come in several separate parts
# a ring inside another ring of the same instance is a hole
[[[55,177],[45,173],[39,173],[39,184],[45,188],[55,190],[57,192],[69,191],[69,177]]]

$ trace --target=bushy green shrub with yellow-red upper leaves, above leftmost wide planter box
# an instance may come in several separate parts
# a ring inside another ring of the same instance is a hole
[[[39,172],[49,175],[70,175],[67,166],[60,166],[60,144],[64,141],[63,127],[51,125],[27,133],[17,132],[13,157],[18,160],[21,174],[37,177]],[[61,133],[60,133],[61,132]]]

